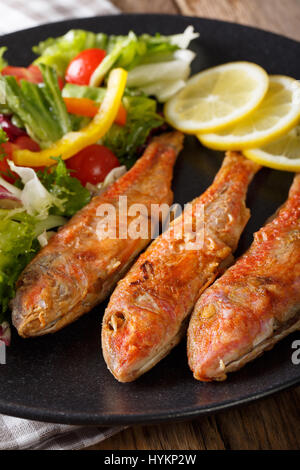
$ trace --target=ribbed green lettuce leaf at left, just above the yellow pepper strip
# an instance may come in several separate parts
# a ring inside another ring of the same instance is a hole
[[[23,122],[29,136],[47,148],[71,130],[71,121],[58,87],[54,69],[41,65],[43,83],[2,77],[6,105]],[[22,164],[22,163],[20,163]]]

